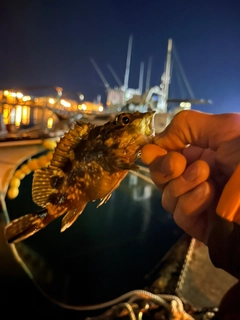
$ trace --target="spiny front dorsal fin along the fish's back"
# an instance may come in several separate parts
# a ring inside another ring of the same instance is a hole
[[[73,150],[76,146],[88,137],[89,132],[95,127],[95,125],[78,121],[74,124],[73,128],[70,128],[68,132],[57,143],[53,158],[50,162],[50,169],[62,169],[66,162],[73,156]]]

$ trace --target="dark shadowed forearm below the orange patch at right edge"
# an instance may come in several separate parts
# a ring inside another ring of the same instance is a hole
[[[212,263],[240,279],[240,225],[219,217],[209,240]]]

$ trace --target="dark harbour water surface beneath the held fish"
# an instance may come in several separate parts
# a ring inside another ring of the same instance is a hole
[[[39,209],[31,200],[32,175],[8,200],[10,220]],[[61,218],[16,245],[36,284],[57,302],[93,305],[154,281],[152,271],[182,231],[160,204],[159,191],[129,174],[98,209],[89,203],[60,233]]]

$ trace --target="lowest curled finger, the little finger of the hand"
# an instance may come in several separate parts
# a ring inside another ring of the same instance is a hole
[[[209,232],[209,221],[212,217],[206,214],[214,199],[215,191],[213,186],[204,181],[195,189],[178,198],[176,208],[173,213],[174,221],[177,225],[191,236],[204,241]],[[214,209],[212,210],[212,216]],[[204,236],[205,235],[205,236]]]

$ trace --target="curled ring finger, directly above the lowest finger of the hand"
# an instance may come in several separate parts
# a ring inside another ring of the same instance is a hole
[[[168,212],[174,212],[178,198],[193,190],[209,177],[210,169],[203,160],[192,163],[185,172],[170,181],[163,190],[162,205]]]

